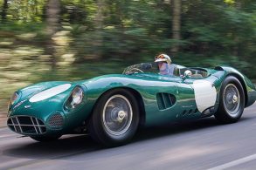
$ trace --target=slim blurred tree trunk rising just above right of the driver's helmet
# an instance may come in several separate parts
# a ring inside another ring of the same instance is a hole
[[[173,3],[173,18],[172,18],[172,38],[174,40],[181,39],[181,0],[172,0]],[[171,51],[176,53],[179,51],[179,45],[176,44],[172,47]]]

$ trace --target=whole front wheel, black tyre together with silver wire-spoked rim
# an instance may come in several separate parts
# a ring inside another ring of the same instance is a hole
[[[135,135],[139,118],[134,95],[125,89],[114,89],[103,94],[94,105],[88,131],[95,141],[104,146],[121,146]]]

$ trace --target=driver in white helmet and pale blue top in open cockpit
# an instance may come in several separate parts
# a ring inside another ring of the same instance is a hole
[[[160,54],[156,56],[155,62],[159,68],[161,75],[174,75],[176,65],[171,64],[171,59],[167,54]]]

